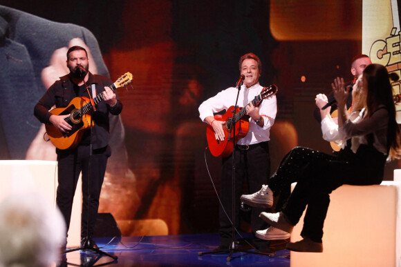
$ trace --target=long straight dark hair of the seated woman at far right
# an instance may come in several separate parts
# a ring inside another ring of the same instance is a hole
[[[400,148],[400,128],[395,120],[395,105],[393,100],[393,88],[389,79],[389,72],[386,67],[380,64],[371,64],[364,69],[364,79],[367,81],[368,94],[366,107],[368,117],[377,110],[377,107],[384,105],[389,112],[389,127],[387,128],[387,146],[397,152]],[[396,155],[398,153],[391,152]],[[390,156],[393,156],[391,155]]]

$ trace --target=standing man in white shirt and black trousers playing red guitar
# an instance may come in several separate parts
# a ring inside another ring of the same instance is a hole
[[[239,70],[241,75],[244,76],[243,85],[240,89],[234,87],[227,88],[214,97],[207,99],[199,106],[200,117],[214,131],[214,141],[216,144],[227,144],[227,146],[230,146],[231,142],[231,140],[227,141],[230,130],[227,130],[226,121],[224,119],[221,120],[217,116],[215,117],[214,113],[229,110],[231,106],[234,106],[238,92],[237,105],[240,108],[245,108],[244,121],[236,123],[236,125],[241,124],[240,127],[243,126],[243,129],[236,129],[242,135],[240,138],[236,138],[234,157],[236,186],[234,188],[234,198],[232,197],[232,152],[227,157],[223,156],[221,204],[227,215],[222,207],[220,207],[218,233],[221,237],[219,249],[222,250],[227,250],[233,240],[232,224],[230,222],[233,212],[232,199],[234,199],[236,207],[236,210],[234,210],[236,220],[233,224],[234,227],[239,226],[239,199],[244,179],[247,180],[248,188],[251,192],[256,192],[268,181],[270,175],[268,141],[270,140],[270,128],[277,114],[277,99],[275,95],[272,94],[268,99],[264,99],[263,97],[263,92],[266,88],[263,88],[259,84],[259,77],[261,76],[261,61],[259,57],[253,53],[243,55],[239,60]],[[259,101],[255,101],[255,99]],[[232,117],[232,113],[227,111],[225,116]],[[209,149],[212,150],[212,147],[213,144],[209,142]],[[252,208],[252,233],[266,226],[263,220],[259,218],[259,213],[262,210],[261,208]],[[262,248],[263,246],[262,242],[256,245],[258,248]]]

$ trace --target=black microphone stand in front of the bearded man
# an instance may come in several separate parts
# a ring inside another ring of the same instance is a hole
[[[118,259],[117,256],[111,255],[109,253],[105,253],[104,251],[100,250],[99,248],[95,248],[94,247],[95,244],[94,244],[93,240],[88,237],[89,224],[90,224],[90,221],[89,221],[89,219],[90,219],[90,217],[89,217],[89,214],[90,214],[89,198],[91,196],[91,176],[92,176],[91,174],[92,174],[92,155],[93,155],[93,148],[92,148],[93,119],[92,118],[93,118],[93,110],[95,109],[95,102],[93,101],[91,93],[88,90],[88,86],[86,86],[85,80],[84,80],[84,84],[85,84],[86,90],[88,91],[89,101],[91,101],[91,109],[89,110],[91,119],[89,120],[89,131],[90,131],[89,140],[90,141],[89,141],[89,161],[88,161],[88,168],[89,168],[89,171],[88,171],[88,199],[86,199],[87,205],[88,205],[88,210],[87,210],[87,214],[86,214],[87,220],[88,220],[88,223],[86,224],[86,235],[87,236],[84,237],[85,242],[84,242],[83,246],[80,246],[80,248],[73,248],[71,250],[66,250],[64,253],[71,253],[71,252],[77,251],[77,250],[83,250],[83,251],[92,250],[93,252],[95,252],[99,255],[105,255],[105,256],[111,257],[112,259],[114,259],[114,261],[116,261]],[[85,201],[85,199],[83,201]]]

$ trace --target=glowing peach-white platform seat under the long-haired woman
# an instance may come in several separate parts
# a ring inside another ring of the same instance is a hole
[[[324,252],[291,252],[290,265],[400,266],[400,193],[401,181],[337,188],[330,194],[324,221]],[[304,215],[295,226],[291,241],[301,240]]]

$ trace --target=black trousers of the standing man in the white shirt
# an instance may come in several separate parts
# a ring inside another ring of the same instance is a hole
[[[268,183],[270,175],[270,154],[268,142],[261,142],[250,146],[249,150],[235,151],[235,190],[234,190],[234,226],[239,226],[239,205],[240,197],[243,192],[244,179],[248,182],[250,192],[257,192],[263,184]],[[221,246],[230,246],[232,241],[232,155],[223,159],[223,169],[221,176],[221,202],[218,233],[221,237]],[[252,232],[267,228],[267,224],[259,218],[263,208],[252,208],[251,228]]]

